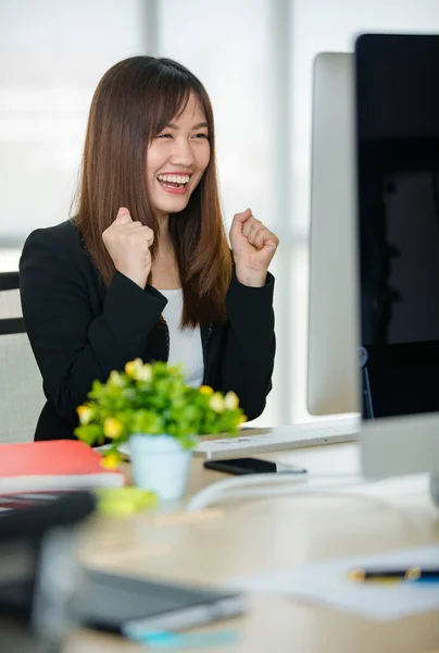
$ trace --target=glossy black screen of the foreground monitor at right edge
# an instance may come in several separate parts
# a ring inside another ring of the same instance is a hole
[[[439,35],[355,45],[361,340],[375,417],[439,410]]]

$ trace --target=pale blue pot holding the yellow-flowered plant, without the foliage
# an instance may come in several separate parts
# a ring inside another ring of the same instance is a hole
[[[186,491],[190,449],[171,435],[134,433],[129,438],[134,481],[138,488],[152,490],[159,498],[181,498]]]

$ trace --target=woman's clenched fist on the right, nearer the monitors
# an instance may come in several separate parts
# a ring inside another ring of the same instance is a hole
[[[238,281],[254,287],[265,285],[278,244],[278,237],[256,220],[250,209],[236,213],[230,227],[230,245]]]

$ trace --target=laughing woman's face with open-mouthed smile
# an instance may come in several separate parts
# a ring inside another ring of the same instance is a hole
[[[158,219],[187,207],[210,157],[205,113],[191,93],[185,110],[148,147],[147,187]]]

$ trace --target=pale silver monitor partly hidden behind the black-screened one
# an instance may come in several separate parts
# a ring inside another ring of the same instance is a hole
[[[314,60],[308,409],[360,412],[354,60]]]

